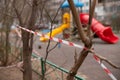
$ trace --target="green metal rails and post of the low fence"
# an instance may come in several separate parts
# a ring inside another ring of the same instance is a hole
[[[41,73],[40,72],[38,72],[39,70],[34,70],[37,74],[41,74],[42,76],[45,74],[45,65],[44,65],[44,59],[42,58],[42,57],[40,57],[40,56],[38,56],[38,55],[36,55],[36,54],[32,54],[32,57],[33,58],[36,58],[40,63],[40,65],[39,65],[39,68],[41,68]],[[37,63],[38,64],[38,63]],[[62,76],[64,75],[64,74],[68,74],[69,73],[69,71],[68,70],[66,70],[66,69],[64,69],[64,68],[62,68],[62,67],[59,67],[58,65],[56,65],[56,64],[54,64],[54,63],[52,63],[52,62],[50,62],[50,61],[48,61],[48,60],[46,60],[46,64],[47,65],[49,65],[49,66],[51,66],[51,68],[54,68],[54,69],[56,69],[56,70],[58,70],[58,71],[60,71],[61,73],[62,73]],[[57,73],[60,73],[60,72],[56,72],[56,74]],[[64,78],[62,77],[62,78],[60,78],[59,77],[59,75],[56,75],[57,76],[57,80],[64,80]],[[49,78],[49,80],[50,80],[50,78]],[[51,80],[54,80],[54,79],[51,79]],[[85,79],[83,79],[83,78],[81,78],[80,76],[78,76],[78,75],[76,75],[75,76],[75,80],[85,80]]]

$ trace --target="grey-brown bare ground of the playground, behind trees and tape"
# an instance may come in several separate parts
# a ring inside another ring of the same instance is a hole
[[[117,34],[120,37],[120,34]],[[76,44],[82,45],[80,41],[74,41]],[[39,52],[41,57],[45,57],[47,43],[42,43],[39,41],[38,37],[34,42],[34,50]],[[50,48],[52,48],[56,43],[51,42]],[[41,49],[38,46],[41,45]],[[99,38],[93,40],[93,48],[95,52],[101,56],[106,57],[108,60],[112,61],[114,64],[120,66],[120,40],[116,44],[107,44]],[[79,48],[70,47],[61,44],[53,51],[48,54],[48,60],[59,65],[65,69],[70,70],[74,63],[74,52],[77,51],[78,55],[81,51]],[[108,69],[111,70],[113,75],[120,80],[120,70],[112,68],[110,65],[104,62]],[[94,60],[93,55],[89,54],[85,59],[84,63],[80,67],[78,73],[84,75],[86,80],[112,80],[101,68],[101,66]],[[80,74],[80,75],[81,75]],[[34,74],[36,77],[36,74]],[[37,79],[33,80],[37,80]],[[18,68],[0,69],[0,80],[22,80],[22,72]]]

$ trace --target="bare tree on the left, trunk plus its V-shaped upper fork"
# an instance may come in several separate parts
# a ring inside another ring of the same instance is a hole
[[[34,31],[37,20],[39,0],[14,0],[13,8],[19,25]],[[33,49],[33,34],[22,30],[23,42],[23,80],[32,80],[31,54]]]

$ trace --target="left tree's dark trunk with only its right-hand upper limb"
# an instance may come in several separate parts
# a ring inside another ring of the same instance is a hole
[[[37,20],[37,10],[38,10],[37,0],[33,0],[32,2],[32,13],[26,23],[26,26],[28,29],[34,31],[34,25]],[[22,24],[21,24],[22,25]],[[31,65],[31,55],[32,55],[32,49],[33,49],[33,34],[23,31],[22,30],[22,40],[23,40],[23,80],[32,80],[32,65]]]

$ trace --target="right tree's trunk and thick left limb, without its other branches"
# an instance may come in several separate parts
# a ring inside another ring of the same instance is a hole
[[[85,45],[85,48],[80,53],[78,60],[76,61],[75,65],[72,67],[72,69],[70,70],[70,72],[67,76],[67,80],[74,80],[74,76],[77,74],[78,69],[80,68],[80,66],[84,62],[86,56],[88,55],[87,49],[90,49],[92,47],[92,41],[83,32],[82,25],[81,25],[78,13],[76,11],[76,8],[74,6],[73,0],[68,0],[68,2],[69,2],[70,9],[72,11],[75,23],[76,23],[78,31],[79,31],[78,34],[79,34],[82,42]]]

